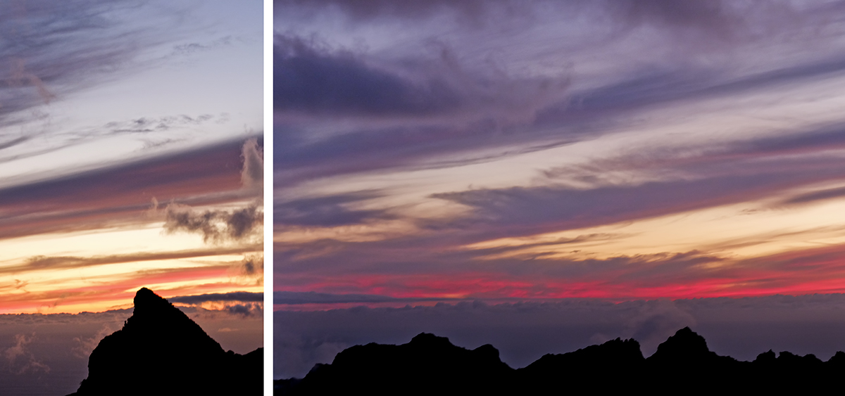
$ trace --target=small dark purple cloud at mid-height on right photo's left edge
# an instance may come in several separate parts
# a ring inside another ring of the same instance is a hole
[[[346,204],[358,203],[381,196],[378,192],[363,191],[316,198],[302,198],[275,203],[273,222],[282,225],[350,225],[373,219],[390,219],[385,210],[347,209]]]

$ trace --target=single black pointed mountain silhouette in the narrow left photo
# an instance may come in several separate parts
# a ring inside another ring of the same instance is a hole
[[[197,323],[152,290],[138,290],[123,328],[91,352],[86,395],[262,394],[264,349],[224,351]]]

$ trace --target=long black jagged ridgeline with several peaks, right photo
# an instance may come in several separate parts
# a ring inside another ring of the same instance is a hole
[[[486,344],[475,350],[419,334],[401,345],[356,345],[302,379],[275,381],[276,395],[806,394],[842,392],[845,353],[830,361],[771,350],[755,361],[720,356],[682,328],[643,357],[635,339],[613,339],[513,369]]]

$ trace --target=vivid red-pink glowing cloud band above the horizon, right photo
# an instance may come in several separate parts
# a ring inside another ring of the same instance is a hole
[[[690,257],[695,258],[695,257]],[[417,274],[373,274],[323,276],[319,282],[288,279],[300,286],[286,291],[318,291],[337,295],[366,294],[397,299],[425,298],[436,301],[482,300],[546,301],[560,298],[599,298],[611,301],[639,299],[689,299],[703,297],[749,297],[771,295],[805,295],[845,292],[845,244],[797,249],[790,252],[744,259],[719,261],[718,265],[673,263],[673,257],[654,258],[616,264],[591,273],[590,261],[534,260],[534,270],[509,275],[494,269],[459,272],[448,277]],[[684,259],[688,259],[684,257]],[[493,261],[493,260],[488,260]],[[528,265],[526,263],[526,265]],[[671,274],[673,265],[684,265]],[[569,276],[543,275],[543,271],[567,266]],[[664,269],[664,267],[666,267]],[[665,270],[663,279],[650,279],[643,274]],[[537,274],[535,274],[537,272]],[[576,275],[581,274],[581,275]],[[404,306],[426,305],[429,302],[373,302],[354,305]],[[332,309],[338,304],[278,305],[281,309]]]

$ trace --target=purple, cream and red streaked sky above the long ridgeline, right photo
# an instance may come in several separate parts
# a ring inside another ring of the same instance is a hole
[[[777,296],[838,312],[843,33],[841,1],[275,1],[274,375],[407,342],[375,324],[426,328],[402,306],[499,306],[476,341],[514,304],[766,306],[707,339],[799,323]],[[361,309],[359,336],[318,331]],[[648,333],[615,328],[577,339]]]

